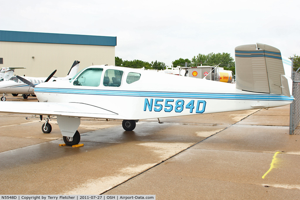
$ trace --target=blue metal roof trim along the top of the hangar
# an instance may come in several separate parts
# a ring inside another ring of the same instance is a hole
[[[0,41],[117,46],[117,37],[110,36],[36,33],[1,30]]]

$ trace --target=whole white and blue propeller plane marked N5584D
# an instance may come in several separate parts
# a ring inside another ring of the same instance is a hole
[[[90,66],[70,80],[36,85],[39,102],[0,102],[0,112],[57,116],[66,145],[80,141],[80,118],[140,119],[270,108],[292,103],[291,79],[278,49],[235,48],[236,84],[115,66]],[[289,67],[289,70],[291,68]],[[170,86],[172,85],[172,86]],[[50,124],[43,127],[51,128]]]

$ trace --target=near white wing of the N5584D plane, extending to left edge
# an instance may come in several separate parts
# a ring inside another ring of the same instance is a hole
[[[0,102],[0,112],[103,119],[127,119],[118,113],[85,103]]]

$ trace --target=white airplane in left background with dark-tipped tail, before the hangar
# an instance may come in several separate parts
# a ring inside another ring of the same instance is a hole
[[[74,61],[69,73],[67,76],[58,78],[52,77],[49,81],[61,81],[71,79],[76,73],[78,73],[79,69],[79,61]],[[46,80],[46,77],[29,77],[22,76],[25,79],[28,79],[34,85],[38,85]],[[9,79],[0,82],[0,94],[3,93],[3,97],[1,97],[1,101],[6,101],[7,94],[13,94],[13,96],[18,96],[18,94],[23,94],[23,98],[27,99],[28,94],[33,94],[33,88],[26,83],[20,81],[16,76],[11,76]]]

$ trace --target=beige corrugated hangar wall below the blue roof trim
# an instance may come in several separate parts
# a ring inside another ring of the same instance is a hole
[[[80,61],[79,70],[115,65],[115,46],[0,41],[0,58],[0,67],[26,67],[16,69],[15,75],[47,77],[57,70],[54,76],[64,77],[74,60]]]

